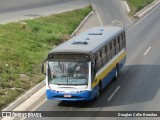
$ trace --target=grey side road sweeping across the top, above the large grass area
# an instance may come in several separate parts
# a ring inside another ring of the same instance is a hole
[[[132,23],[121,0],[0,0],[0,23],[56,14],[89,4],[95,6],[103,25],[114,20],[126,26]]]

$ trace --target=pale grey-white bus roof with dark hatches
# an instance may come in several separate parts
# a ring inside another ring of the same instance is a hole
[[[93,27],[52,49],[50,53],[90,54],[124,31],[117,26]]]

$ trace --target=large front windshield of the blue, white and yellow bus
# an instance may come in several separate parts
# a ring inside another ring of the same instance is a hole
[[[48,82],[56,85],[87,85],[87,61],[49,61]]]

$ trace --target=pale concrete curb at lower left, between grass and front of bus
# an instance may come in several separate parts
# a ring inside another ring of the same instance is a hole
[[[12,111],[14,110],[18,105],[26,101],[29,97],[31,97],[36,91],[41,89],[43,86],[45,86],[45,80],[34,86],[32,89],[27,91],[24,95],[20,96],[16,101],[11,103],[8,107],[4,108],[2,111]]]

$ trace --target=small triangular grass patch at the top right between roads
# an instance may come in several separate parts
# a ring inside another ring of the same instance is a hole
[[[154,0],[127,0],[131,12],[131,15],[134,15],[136,12],[153,2]]]

